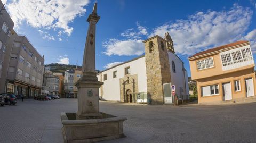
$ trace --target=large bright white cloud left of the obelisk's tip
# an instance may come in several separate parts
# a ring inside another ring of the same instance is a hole
[[[7,4],[15,28],[25,21],[34,28],[62,29],[68,36],[73,27],[68,26],[76,16],[82,16],[89,0],[17,0]],[[60,33],[59,33],[60,34]],[[61,35],[61,34],[60,34]]]

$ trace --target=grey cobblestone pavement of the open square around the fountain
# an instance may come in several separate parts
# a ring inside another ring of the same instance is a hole
[[[127,117],[126,138],[105,143],[256,142],[256,103],[177,107],[100,102],[100,109]],[[60,112],[76,110],[76,99],[26,99],[0,106],[0,142],[63,142]]]

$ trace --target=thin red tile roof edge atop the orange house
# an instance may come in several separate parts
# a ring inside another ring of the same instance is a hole
[[[221,49],[233,47],[233,46],[240,45],[240,44],[244,44],[244,43],[247,43],[247,42],[249,42],[249,41],[236,41],[236,42],[234,42],[234,43],[230,43],[230,44],[227,44],[227,45],[222,45],[222,46],[219,46],[219,47],[207,49],[207,50],[205,50],[205,51],[196,53],[195,55],[190,56],[189,58],[191,58],[191,57],[196,57],[196,56],[200,56],[200,55],[204,55],[204,54],[208,54],[208,53],[212,53],[212,52],[215,52],[215,51],[219,51],[219,50],[221,50]]]

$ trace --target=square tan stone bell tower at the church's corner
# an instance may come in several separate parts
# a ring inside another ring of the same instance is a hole
[[[143,42],[145,43],[148,104],[163,104],[163,83],[171,82],[166,40],[154,36]]]

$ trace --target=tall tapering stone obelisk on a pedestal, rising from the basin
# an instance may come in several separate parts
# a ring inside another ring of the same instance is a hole
[[[95,72],[95,30],[100,16],[97,15],[97,3],[94,3],[92,14],[87,22],[89,28],[84,48],[82,76],[75,83],[78,89],[78,111],[76,119],[87,119],[88,117],[102,116],[99,112],[99,88],[103,82],[98,81]]]

